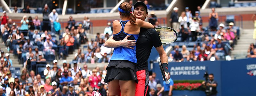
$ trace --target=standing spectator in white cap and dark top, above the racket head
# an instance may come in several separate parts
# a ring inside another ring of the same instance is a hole
[[[172,12],[172,14],[171,14],[171,17],[170,17],[170,22],[171,22],[171,24],[172,24],[172,28],[174,29],[174,30],[176,30],[177,32],[179,32],[179,27],[180,27],[180,25],[179,25],[179,15],[178,15],[178,11],[179,11],[179,8],[177,8],[177,7],[174,7],[173,8],[173,12]]]

